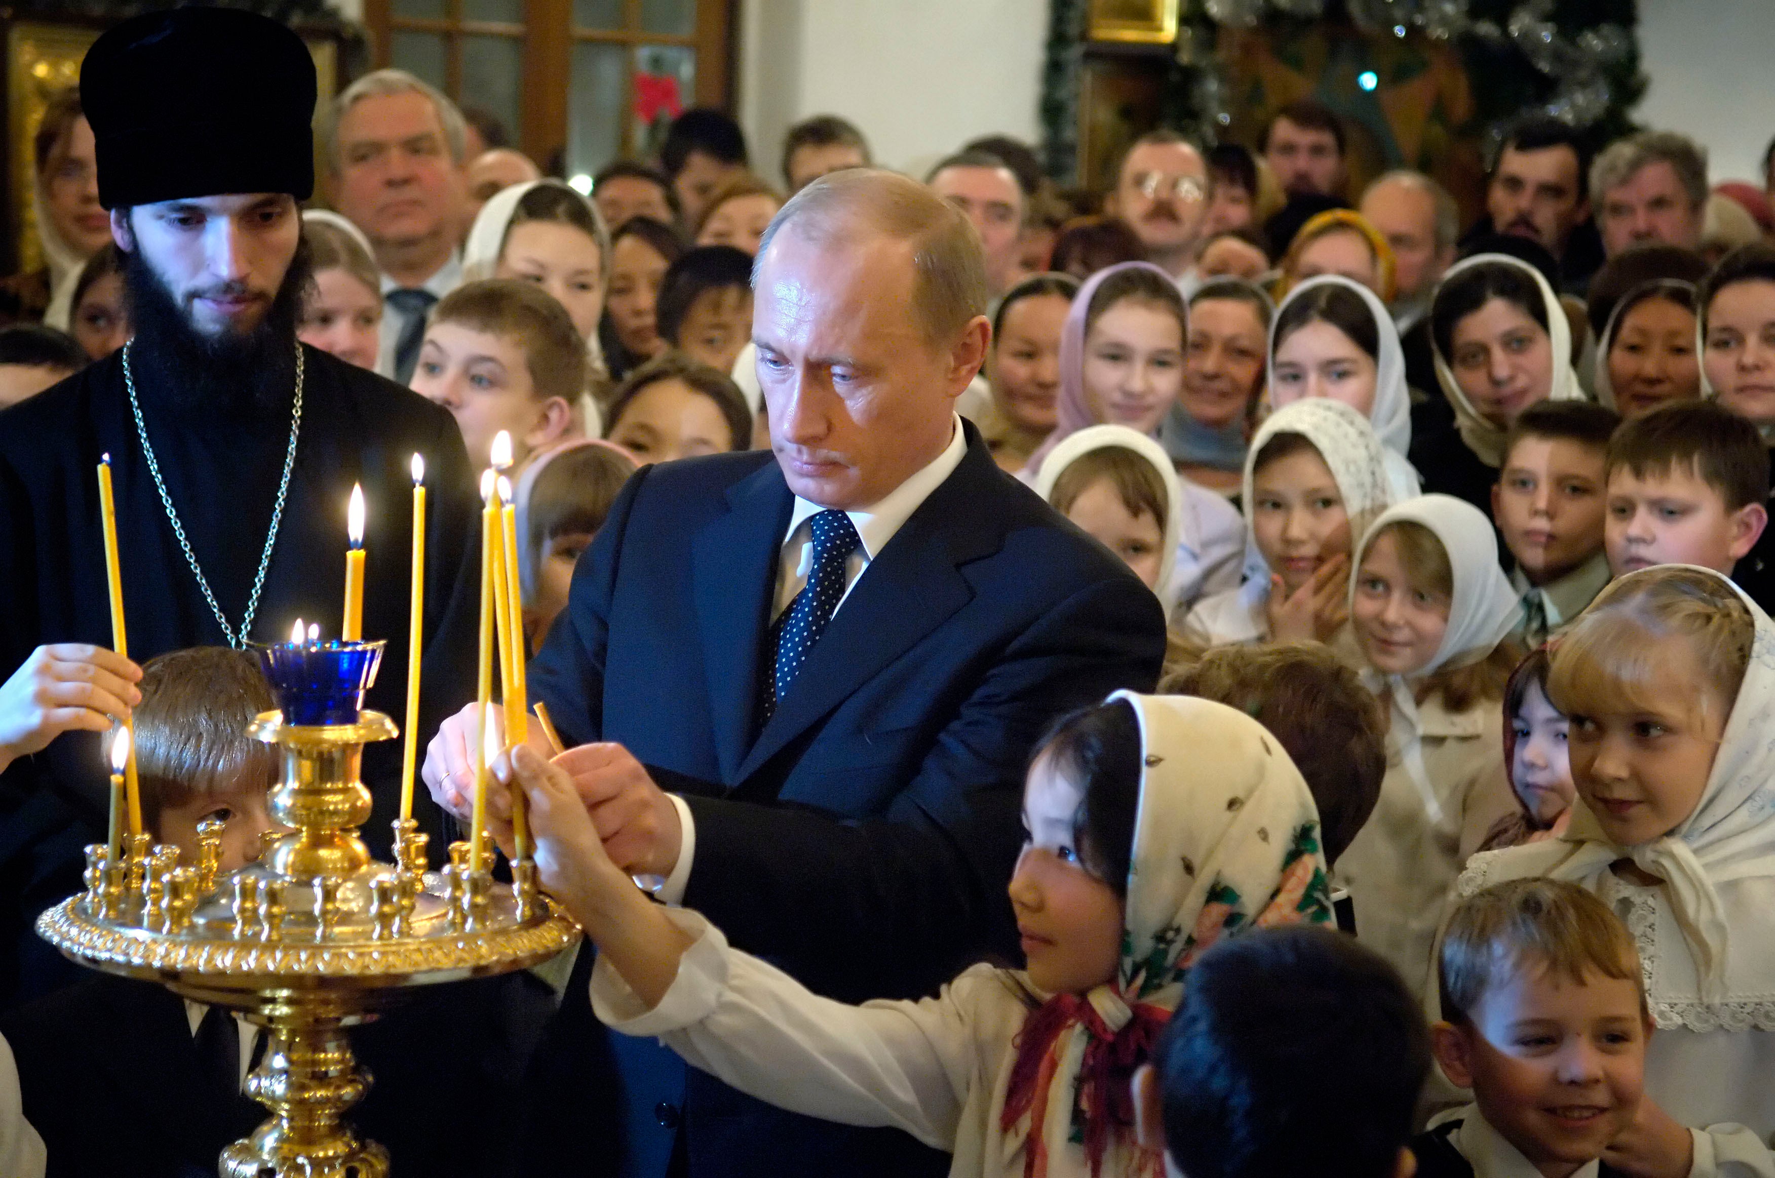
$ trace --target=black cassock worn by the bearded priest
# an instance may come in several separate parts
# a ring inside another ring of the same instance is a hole
[[[421,733],[474,694],[479,594],[476,488],[454,419],[424,397],[304,346],[304,410],[277,546],[254,617],[256,642],[288,640],[296,617],[337,637],[344,605],[346,504],[362,483],[364,637],[387,639],[367,706],[403,724],[412,561],[412,456],[426,461],[426,624]],[[124,390],[121,353],[0,413],[0,679],[46,642],[112,646],[96,467],[110,454],[130,656],[146,662],[227,639],[160,502]],[[192,552],[240,628],[264,552],[289,399],[181,410],[135,365],[147,438]],[[399,740],[366,749],[376,809],[364,829],[387,846],[399,805]],[[419,752],[424,758],[424,749]],[[415,816],[438,853],[440,816],[417,786]],[[0,1008],[64,981],[30,933],[43,907],[80,887],[85,843],[103,841],[105,768],[96,734],[59,738],[0,774]]]

